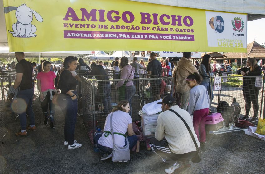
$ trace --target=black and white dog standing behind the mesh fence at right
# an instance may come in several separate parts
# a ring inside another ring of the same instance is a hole
[[[236,102],[236,98],[233,98],[231,106],[226,101],[220,101],[216,108],[217,112],[221,113],[224,118],[225,126],[230,129],[230,126],[235,127],[235,121],[239,123],[239,116],[241,112],[241,107],[239,103]],[[229,125],[229,122],[231,124]]]

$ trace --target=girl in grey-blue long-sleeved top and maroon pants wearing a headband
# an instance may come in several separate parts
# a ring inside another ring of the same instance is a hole
[[[200,85],[202,82],[202,77],[198,73],[190,74],[186,79],[186,82],[190,89],[190,100],[188,112],[190,115],[193,113],[193,127],[194,131],[200,141],[202,150],[205,150],[205,120],[206,117],[211,113],[211,104],[209,100],[209,95],[207,90],[203,85]],[[200,136],[199,136],[200,128]]]

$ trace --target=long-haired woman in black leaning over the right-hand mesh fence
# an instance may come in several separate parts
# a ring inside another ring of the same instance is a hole
[[[260,76],[261,67],[257,64],[255,57],[248,57],[247,66],[236,71],[237,74],[242,76]],[[243,96],[246,102],[246,115],[243,117],[245,120],[249,120],[249,111],[251,103],[253,104],[254,116],[250,121],[258,121],[258,94],[260,87],[255,86],[256,77],[244,77],[243,78]]]

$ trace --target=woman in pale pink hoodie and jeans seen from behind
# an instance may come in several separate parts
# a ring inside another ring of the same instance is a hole
[[[128,79],[128,80],[122,80],[118,81],[118,83],[115,85],[115,89],[120,89],[120,91],[125,91],[124,99],[123,95],[119,93],[119,100],[127,100],[130,104],[130,111],[129,114],[132,116],[132,96],[135,94],[136,88],[133,85],[132,80],[134,79],[134,72],[135,68],[129,65],[129,60],[127,57],[123,56],[120,59],[119,67],[121,69],[119,73],[119,79]],[[122,90],[122,86],[125,86],[125,90]]]

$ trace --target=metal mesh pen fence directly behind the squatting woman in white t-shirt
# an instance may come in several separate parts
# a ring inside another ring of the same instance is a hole
[[[133,85],[137,86],[137,88],[126,87],[126,89],[118,92],[115,89],[115,85],[119,82],[123,83],[121,81],[124,80],[113,79],[112,74],[109,76],[110,80],[96,80],[94,77],[81,76],[82,113],[84,127],[90,139],[91,136],[93,139],[93,133],[97,126],[103,129],[107,114],[117,106],[120,100],[124,100],[127,96],[131,96],[132,120],[140,120],[138,112],[142,109],[144,104],[155,101],[158,94],[162,98],[166,95],[170,95],[172,92],[171,77],[160,76],[157,78],[125,80],[131,87]],[[159,83],[158,81],[162,82]],[[126,94],[122,94],[122,91]]]

